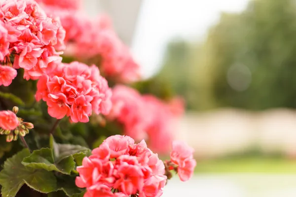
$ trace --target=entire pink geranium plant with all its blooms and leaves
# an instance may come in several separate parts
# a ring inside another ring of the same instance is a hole
[[[0,196],[160,197],[196,165],[173,140],[182,101],[129,87],[139,66],[80,4],[0,3]]]

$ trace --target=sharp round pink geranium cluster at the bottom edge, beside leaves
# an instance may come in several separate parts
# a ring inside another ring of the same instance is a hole
[[[76,185],[84,197],[160,197],[166,184],[165,167],[143,140],[108,137],[77,167]]]

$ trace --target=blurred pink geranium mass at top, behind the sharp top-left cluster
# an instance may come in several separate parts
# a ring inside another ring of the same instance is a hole
[[[118,38],[106,15],[91,20],[82,10],[74,9],[72,3],[62,6],[61,1],[38,1],[42,2],[41,6],[43,5],[48,15],[60,17],[66,29],[66,56],[74,56],[82,62],[91,59],[92,63],[100,65],[100,70],[106,77],[115,81],[131,82],[140,78],[140,66]],[[74,5],[79,4],[78,1]]]

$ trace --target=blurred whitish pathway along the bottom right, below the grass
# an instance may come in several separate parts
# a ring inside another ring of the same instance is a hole
[[[175,177],[163,197],[296,197],[296,175],[197,174],[185,183]]]

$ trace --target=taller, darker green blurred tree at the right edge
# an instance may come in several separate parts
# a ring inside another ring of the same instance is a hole
[[[222,14],[206,42],[206,67],[219,106],[296,108],[295,0],[253,0]]]

